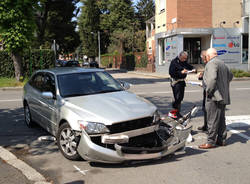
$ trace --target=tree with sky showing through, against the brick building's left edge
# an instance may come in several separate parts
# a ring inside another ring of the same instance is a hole
[[[153,0],[140,0],[136,4],[136,18],[140,22],[140,30],[146,29],[146,21],[154,16],[155,4]]]

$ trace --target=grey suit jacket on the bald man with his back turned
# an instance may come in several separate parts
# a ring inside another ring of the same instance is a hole
[[[218,57],[210,60],[204,71],[204,84],[207,98],[222,104],[230,104],[229,84],[233,74]]]

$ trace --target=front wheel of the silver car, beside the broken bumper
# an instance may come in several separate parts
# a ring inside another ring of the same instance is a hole
[[[80,137],[75,136],[74,131],[68,123],[60,126],[57,133],[57,145],[63,156],[69,160],[80,160],[81,156],[77,152]]]

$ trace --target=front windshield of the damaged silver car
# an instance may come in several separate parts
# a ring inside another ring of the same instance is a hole
[[[62,97],[74,97],[124,90],[107,72],[63,74],[58,77]]]

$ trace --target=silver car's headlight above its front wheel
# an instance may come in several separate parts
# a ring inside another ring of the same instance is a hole
[[[85,130],[88,134],[103,134],[108,133],[109,129],[102,123],[78,121],[80,129]]]

